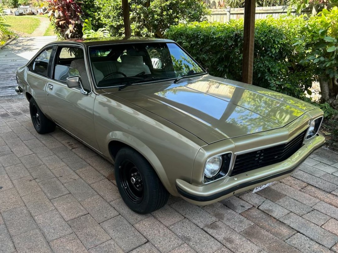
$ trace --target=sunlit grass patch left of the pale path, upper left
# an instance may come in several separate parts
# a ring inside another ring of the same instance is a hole
[[[5,19],[4,26],[25,34],[31,34],[41,23],[38,17],[33,16],[6,16]]]

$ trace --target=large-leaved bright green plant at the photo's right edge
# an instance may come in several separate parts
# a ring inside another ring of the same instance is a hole
[[[301,32],[294,44],[304,52],[300,63],[311,68],[319,81],[321,102],[338,108],[338,8],[310,17]]]

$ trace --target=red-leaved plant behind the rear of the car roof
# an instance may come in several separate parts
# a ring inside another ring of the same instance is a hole
[[[49,5],[48,17],[55,33],[65,39],[81,38],[81,2],[75,0],[45,0]]]

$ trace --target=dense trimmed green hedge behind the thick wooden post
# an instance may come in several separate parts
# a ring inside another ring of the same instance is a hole
[[[256,21],[253,84],[305,98],[313,73],[299,64],[304,52],[293,46],[304,25],[302,17]],[[243,20],[171,26],[165,36],[185,48],[211,75],[241,80]]]

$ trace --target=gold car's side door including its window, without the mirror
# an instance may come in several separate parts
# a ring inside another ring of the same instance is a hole
[[[47,106],[57,124],[98,149],[93,119],[96,95],[92,92],[87,69],[82,48],[59,46],[54,57],[52,79],[46,85]],[[80,87],[67,86],[66,78],[72,76],[80,76],[86,92]]]

